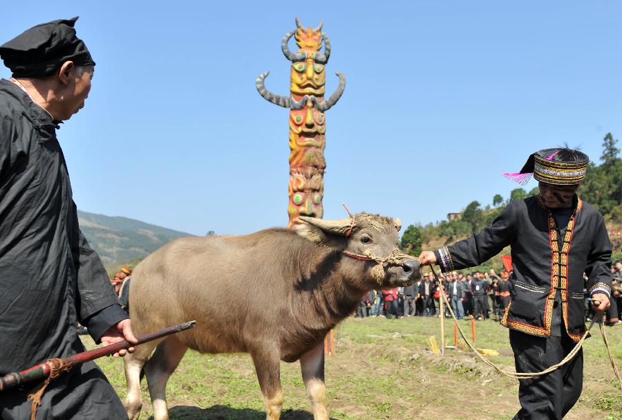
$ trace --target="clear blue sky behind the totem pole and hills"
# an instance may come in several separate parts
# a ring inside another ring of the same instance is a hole
[[[197,235],[287,224],[288,111],[254,84],[270,70],[288,94],[296,16],[324,21],[328,91],[348,78],[326,113],[325,218],[346,202],[439,221],[507,197],[501,173],[538,149],[597,160],[622,136],[620,2],[32,1],[2,15],[1,42],[80,16],[93,90],[59,131],[78,208]]]

